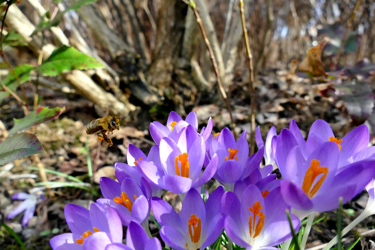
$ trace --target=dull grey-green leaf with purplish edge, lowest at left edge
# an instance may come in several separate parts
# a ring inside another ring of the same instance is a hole
[[[7,137],[0,143],[0,165],[27,155],[44,153],[43,146],[35,134],[20,133]]]

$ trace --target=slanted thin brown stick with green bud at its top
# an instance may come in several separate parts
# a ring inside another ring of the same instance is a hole
[[[210,52],[211,61],[212,61],[213,67],[215,69],[216,78],[217,78],[217,81],[216,81],[217,89],[219,90],[219,93],[221,94],[221,97],[224,99],[226,108],[228,109],[229,116],[231,118],[233,135],[234,135],[234,138],[237,139],[236,131],[234,130],[236,128],[236,123],[234,123],[234,120],[233,120],[232,109],[231,109],[231,106],[229,105],[228,96],[226,95],[225,90],[224,90],[224,88],[223,88],[223,86],[221,84],[219,69],[217,68],[217,63],[216,63],[216,58],[215,58],[215,55],[213,54],[213,51],[212,51],[212,48],[211,48],[211,44],[208,41],[206,32],[204,30],[204,27],[203,27],[203,24],[202,24],[202,21],[201,21],[201,18],[199,17],[198,11],[196,11],[196,8],[195,8],[196,6],[195,6],[195,3],[194,3],[193,0],[190,0],[190,2],[187,2],[187,0],[183,0],[183,1],[186,4],[188,4],[190,6],[190,8],[194,11],[194,14],[195,14],[195,17],[196,17],[196,21],[197,21],[197,23],[199,25],[199,28],[201,29],[201,32],[202,32],[204,41],[206,43],[206,46],[208,48],[208,51]]]

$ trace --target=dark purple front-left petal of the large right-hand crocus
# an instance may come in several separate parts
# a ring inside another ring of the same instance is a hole
[[[280,187],[282,197],[291,207],[300,210],[310,210],[312,208],[312,202],[302,188],[286,180],[281,181]]]

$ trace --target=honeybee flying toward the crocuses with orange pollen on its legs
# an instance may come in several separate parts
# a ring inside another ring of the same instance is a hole
[[[95,105],[95,110],[97,113],[103,113],[98,105]],[[108,134],[110,132],[113,134],[114,130],[119,130],[120,122],[125,118],[126,117],[119,119],[117,116],[104,116],[103,118],[93,120],[87,124],[86,134],[96,133],[99,141],[105,141],[111,147],[113,145],[112,140],[109,139],[105,133],[108,131]]]

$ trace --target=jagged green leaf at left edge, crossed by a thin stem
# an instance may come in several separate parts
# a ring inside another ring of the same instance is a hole
[[[7,75],[7,77],[0,84],[0,102],[4,99],[5,96],[9,95],[9,92],[3,88],[3,84],[7,86],[10,90],[15,92],[19,85],[15,76],[17,75],[18,79],[20,80],[20,83],[22,84],[25,81],[30,80],[30,71],[33,68],[34,67],[30,64],[21,64],[14,68],[14,72],[16,74],[14,74],[13,71],[9,71],[9,75]]]

